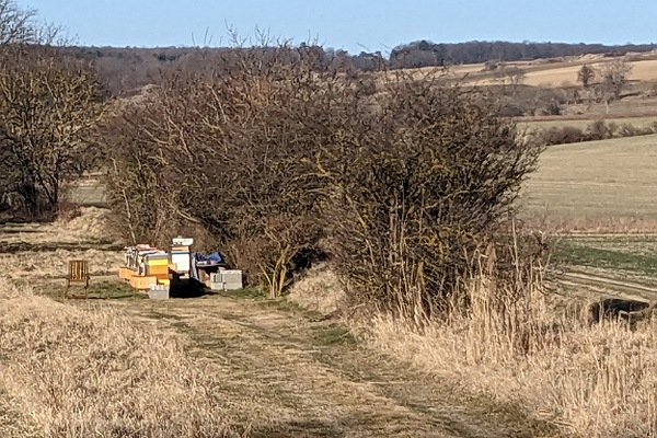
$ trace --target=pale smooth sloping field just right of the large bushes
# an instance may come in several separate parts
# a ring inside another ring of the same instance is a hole
[[[655,229],[656,160],[655,135],[551,147],[522,191],[523,215],[591,231]]]

